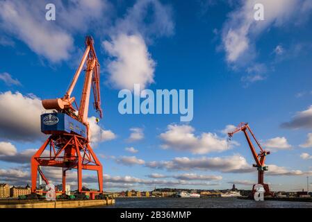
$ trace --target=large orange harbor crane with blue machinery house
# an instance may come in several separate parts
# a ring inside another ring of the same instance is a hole
[[[90,192],[90,198],[103,192],[103,170],[101,162],[90,146],[90,128],[88,123],[88,108],[90,91],[94,94],[93,106],[102,117],[99,87],[99,61],[93,46],[92,37],[85,38],[85,52],[74,78],[63,98],[45,99],[43,107],[47,110],[41,115],[41,131],[50,135],[44,144],[31,158],[31,191],[36,193],[38,173],[49,184],[49,180],[40,169],[43,167],[62,168],[62,183],[65,194],[66,172],[77,171],[78,193],[83,194],[82,170],[97,171],[99,190]],[[79,107],[72,92],[85,64],[85,79]],[[75,108],[74,108],[75,105]],[[98,120],[98,119],[97,119]]]

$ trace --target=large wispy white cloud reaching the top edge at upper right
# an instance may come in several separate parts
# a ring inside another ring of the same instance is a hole
[[[254,19],[255,3],[263,4],[264,21]],[[224,24],[222,31],[222,43],[227,62],[233,63],[238,62],[240,58],[254,57],[253,48],[256,37],[269,26],[281,26],[285,22],[291,22],[290,19],[294,18],[293,15],[299,15],[295,12],[303,7],[304,1],[296,0],[240,1],[240,6],[229,14],[229,19]],[[297,18],[300,17],[297,16]]]

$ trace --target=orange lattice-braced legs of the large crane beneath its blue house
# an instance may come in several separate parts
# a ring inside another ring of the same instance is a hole
[[[85,192],[82,187],[82,171],[97,171],[99,191],[96,192],[99,194],[103,192],[102,165],[85,137],[74,134],[51,135],[46,142],[44,142],[35,155],[31,157],[32,193],[36,193],[38,172],[44,182],[46,182],[47,185],[49,184],[49,180],[45,178],[40,166],[62,168],[63,194],[65,194],[66,190],[66,171],[71,169],[77,170],[77,191],[79,193]],[[92,194],[91,198],[94,198],[94,194]]]

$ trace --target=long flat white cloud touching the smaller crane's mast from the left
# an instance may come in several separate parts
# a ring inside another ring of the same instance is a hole
[[[229,157],[175,157],[170,161],[147,162],[147,167],[167,170],[212,170],[225,173],[249,173],[255,171],[241,155]]]

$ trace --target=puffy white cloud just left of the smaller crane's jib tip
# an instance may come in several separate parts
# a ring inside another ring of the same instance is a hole
[[[231,148],[227,139],[217,137],[214,133],[202,133],[200,136],[194,134],[195,128],[188,125],[169,125],[167,131],[161,133],[163,148],[173,148],[177,151],[190,151],[194,154],[210,152],[222,152]],[[236,143],[232,143],[237,145]]]

